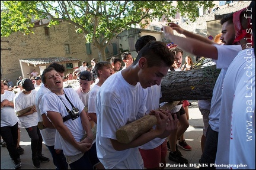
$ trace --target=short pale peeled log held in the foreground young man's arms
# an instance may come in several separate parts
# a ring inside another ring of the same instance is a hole
[[[164,106],[159,107],[159,109],[168,108],[171,110],[175,107],[180,101],[177,102],[168,102],[164,104]],[[135,140],[137,137],[142,135],[143,133],[148,132],[154,125],[156,125],[156,117],[154,115],[145,115],[142,118],[131,122],[116,131],[117,141],[120,143],[130,143]]]

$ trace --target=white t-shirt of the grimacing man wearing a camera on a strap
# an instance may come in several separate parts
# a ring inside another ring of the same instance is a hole
[[[71,88],[64,88],[63,90],[65,91],[68,99],[72,102],[73,106],[79,109],[80,114],[82,110],[84,110],[84,103],[82,103],[78,94]],[[43,113],[46,113],[47,115],[47,111],[53,111],[59,113],[62,117],[68,116],[66,107],[68,107],[69,110],[72,110],[72,106],[66,99],[65,94],[57,96],[55,93],[52,93],[52,91],[46,93],[41,100],[41,104],[43,104]],[[79,142],[85,135],[85,130],[82,126],[80,116],[74,120],[66,120],[64,124],[71,131],[76,141]],[[71,145],[71,143],[63,139],[57,130],[55,136],[55,149],[63,149],[64,155],[66,156],[73,156],[82,153]]]

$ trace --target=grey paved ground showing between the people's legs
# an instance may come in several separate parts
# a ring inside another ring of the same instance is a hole
[[[196,164],[199,163],[201,156],[200,140],[203,133],[203,119],[197,106],[197,100],[192,100],[192,106],[190,106],[188,110],[190,115],[190,119],[188,120],[190,127],[185,132],[185,139],[188,145],[191,146],[192,150],[184,151],[181,148],[179,149],[184,158],[188,159],[188,167],[182,167],[183,165],[178,165],[175,162],[169,161],[167,155],[167,165],[169,167],[165,169],[199,169],[199,166]],[[24,128],[21,129],[20,145],[24,148],[24,154],[21,155],[22,165],[20,169],[36,169],[33,167],[31,160],[30,138]],[[45,145],[43,145],[43,154],[50,159],[50,162],[41,163],[41,166],[38,169],[55,169],[52,156]],[[12,163],[7,148],[5,147],[1,147],[1,169],[14,169],[14,164]]]

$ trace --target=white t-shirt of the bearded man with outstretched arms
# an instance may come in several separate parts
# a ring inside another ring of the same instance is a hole
[[[210,127],[219,132],[220,102],[222,100],[222,84],[226,74],[226,69],[231,64],[233,58],[242,50],[241,45],[214,45],[217,48],[218,59],[215,60],[216,67],[222,68],[213,88],[213,96],[209,114]],[[226,60],[227,59],[227,60]]]

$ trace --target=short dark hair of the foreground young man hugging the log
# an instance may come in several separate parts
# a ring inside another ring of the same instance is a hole
[[[148,67],[162,66],[171,67],[174,63],[174,55],[161,41],[148,42],[138,53],[133,65],[136,65],[141,57],[145,57]]]

